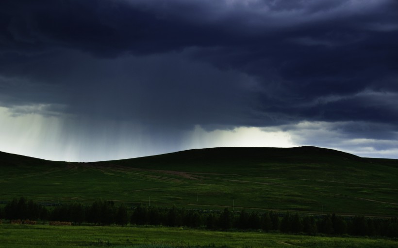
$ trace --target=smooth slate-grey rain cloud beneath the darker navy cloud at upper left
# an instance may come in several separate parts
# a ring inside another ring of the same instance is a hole
[[[0,101],[19,114],[59,110],[174,129],[197,123],[225,127],[247,116],[248,76],[184,59],[181,53],[98,60],[68,50],[37,57],[15,60],[14,66],[29,68],[19,77],[3,64],[8,76],[0,78]],[[37,108],[26,106],[35,103]]]

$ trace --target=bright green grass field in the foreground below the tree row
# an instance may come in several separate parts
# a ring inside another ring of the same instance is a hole
[[[0,247],[13,248],[397,248],[397,240],[216,232],[165,227],[0,225]]]

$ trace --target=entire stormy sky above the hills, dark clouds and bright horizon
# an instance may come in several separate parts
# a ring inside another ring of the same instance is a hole
[[[397,0],[1,0],[0,151],[398,158]]]

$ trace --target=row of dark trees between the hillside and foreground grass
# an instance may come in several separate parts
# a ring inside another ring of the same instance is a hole
[[[80,225],[163,225],[187,226],[212,230],[263,230],[264,232],[306,233],[316,235],[368,235],[398,237],[397,218],[342,217],[335,214],[301,216],[298,213],[234,212],[193,210],[173,207],[138,205],[116,206],[113,201],[97,200],[91,205],[78,202],[46,207],[21,197],[0,208],[0,218],[41,221],[70,221]]]

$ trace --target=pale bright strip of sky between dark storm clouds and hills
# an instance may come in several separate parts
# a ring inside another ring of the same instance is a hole
[[[374,129],[357,122],[300,122],[282,126],[234,127],[165,132],[140,124],[97,122],[90,118],[24,114],[10,116],[0,108],[0,150],[50,160],[99,161],[163,154],[207,147],[295,147],[315,145],[363,157],[398,158],[398,142],[381,139]],[[363,138],[347,130],[360,125],[377,138]]]

